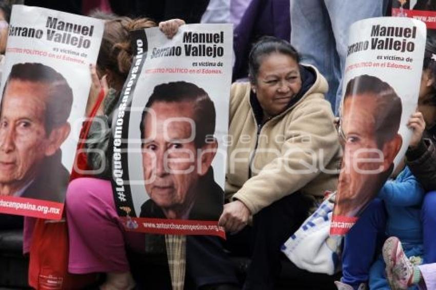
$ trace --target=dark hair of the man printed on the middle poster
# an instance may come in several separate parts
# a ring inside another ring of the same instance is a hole
[[[202,88],[186,81],[168,82],[154,87],[154,91],[148,99],[142,112],[140,130],[141,139],[144,139],[144,119],[147,115],[147,108],[151,108],[155,102],[182,102],[193,103],[195,137],[194,143],[201,148],[206,143],[208,136],[215,133],[216,112],[213,101]]]

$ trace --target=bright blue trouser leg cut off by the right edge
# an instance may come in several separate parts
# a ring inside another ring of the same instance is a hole
[[[424,263],[436,263],[436,191],[425,195],[422,205]]]

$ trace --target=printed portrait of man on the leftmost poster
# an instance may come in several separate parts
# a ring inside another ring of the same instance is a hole
[[[0,195],[64,202],[69,172],[61,144],[73,93],[67,80],[38,63],[15,64],[1,102]]]

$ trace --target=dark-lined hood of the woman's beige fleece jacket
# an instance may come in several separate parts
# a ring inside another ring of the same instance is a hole
[[[325,94],[328,91],[328,84],[324,76],[320,74],[318,69],[311,65],[299,65],[301,76],[301,89],[300,91],[289,101],[286,109],[281,113],[290,110],[297,103],[299,103],[305,96],[313,93]],[[263,110],[257,96],[253,91],[250,92],[250,105],[253,108],[254,117],[257,124],[262,123]],[[280,114],[280,115],[281,115]]]

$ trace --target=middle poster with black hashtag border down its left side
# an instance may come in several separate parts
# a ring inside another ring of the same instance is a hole
[[[231,25],[132,34],[130,74],[112,120],[112,187],[128,230],[217,235],[223,211]]]

